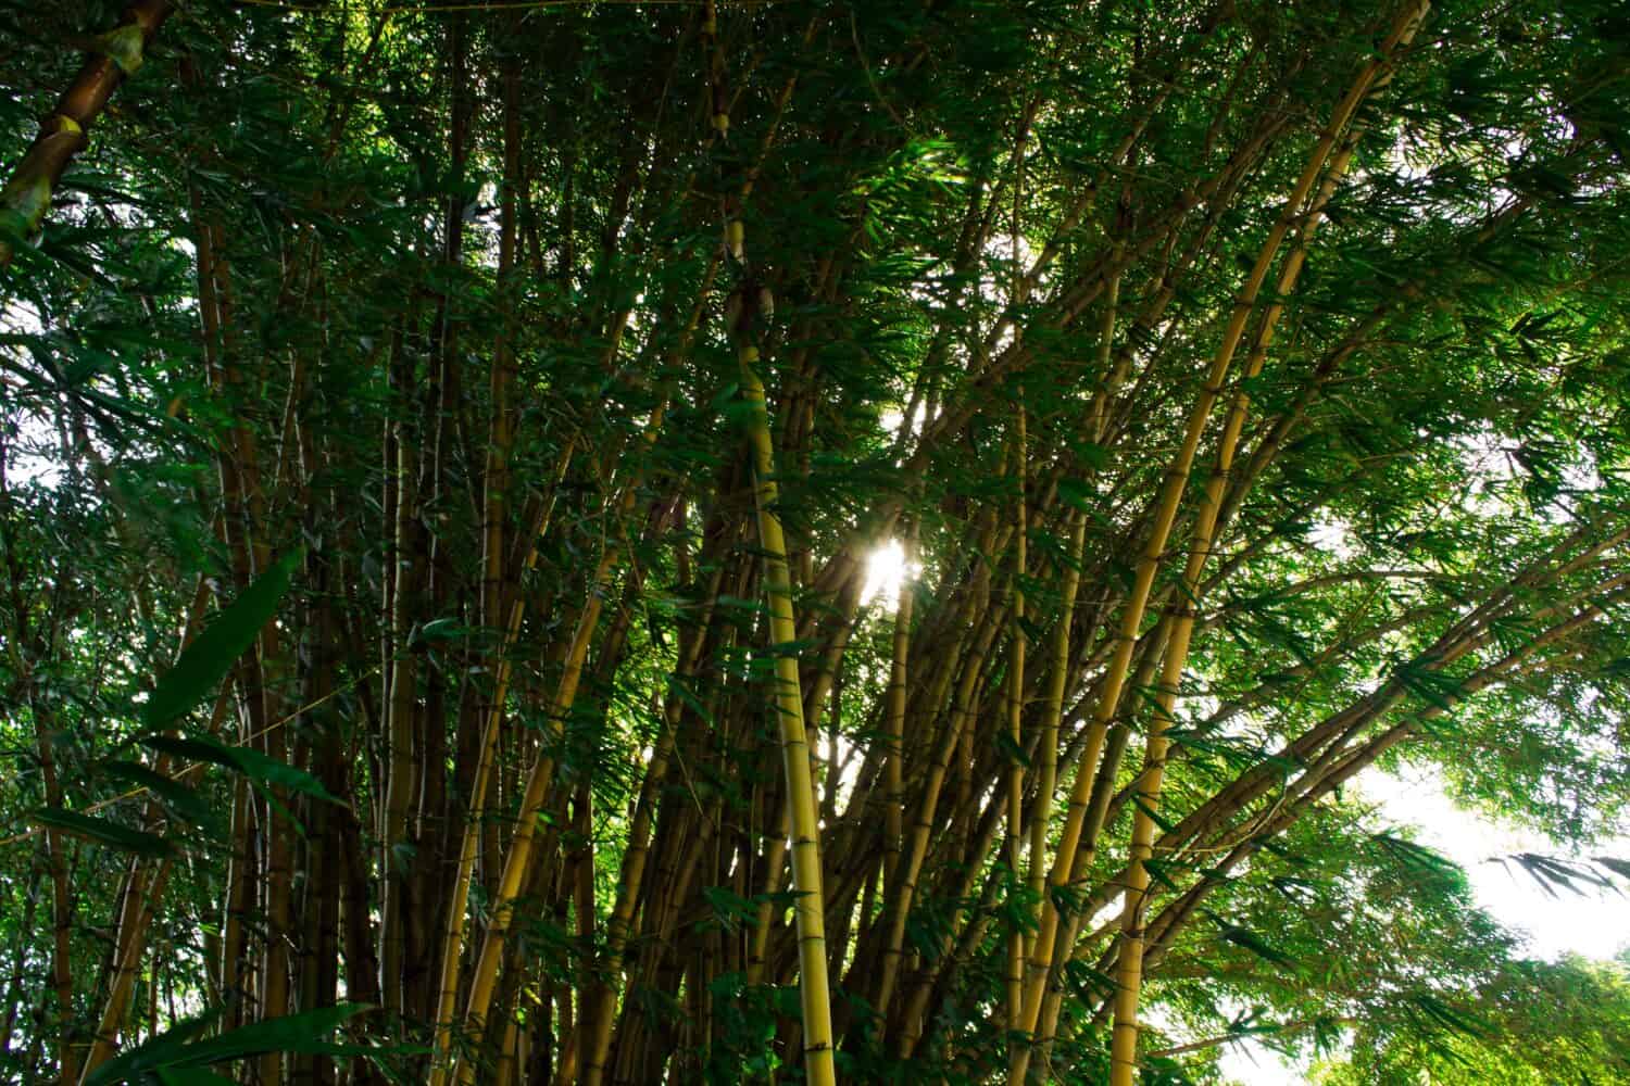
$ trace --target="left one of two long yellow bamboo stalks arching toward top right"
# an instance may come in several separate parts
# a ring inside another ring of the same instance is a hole
[[[1120,700],[1121,684],[1126,679],[1128,668],[1131,664],[1131,650],[1136,643],[1138,630],[1143,625],[1144,606],[1149,599],[1149,591],[1154,585],[1154,575],[1161,565],[1161,558],[1165,552],[1165,541],[1170,534],[1172,523],[1177,519],[1177,510],[1182,503],[1183,488],[1188,482],[1188,471],[1193,464],[1195,453],[1200,448],[1200,438],[1205,433],[1206,422],[1211,415],[1211,407],[1216,404],[1222,392],[1222,381],[1227,376],[1229,366],[1234,361],[1234,353],[1239,348],[1239,342],[1245,332],[1245,322],[1255,308],[1257,296],[1262,291],[1262,285],[1268,277],[1268,270],[1278,256],[1280,246],[1283,244],[1286,234],[1289,234],[1296,217],[1301,213],[1302,205],[1307,202],[1319,174],[1324,171],[1325,160],[1328,158],[1335,142],[1340,138],[1341,130],[1346,127],[1353,112],[1368,96],[1371,85],[1381,75],[1390,54],[1399,47],[1405,34],[1413,33],[1418,24],[1418,18],[1425,13],[1425,0],[1412,5],[1395,23],[1387,41],[1382,44],[1376,59],[1368,62],[1353,85],[1348,88],[1346,94],[1337,103],[1332,111],[1330,122],[1319,142],[1314,145],[1312,153],[1307,156],[1307,164],[1302,168],[1301,177],[1297,177],[1294,187],[1291,189],[1289,199],[1286,199],[1278,220],[1268,231],[1268,238],[1263,241],[1262,251],[1257,254],[1257,261],[1252,265],[1250,274],[1245,278],[1244,287],[1234,303],[1234,311],[1229,317],[1227,327],[1222,332],[1222,342],[1218,345],[1218,353],[1213,358],[1209,373],[1206,374],[1206,383],[1190,410],[1188,427],[1183,436],[1183,443],[1177,451],[1167,467],[1165,484],[1162,485],[1159,501],[1154,511],[1154,524],[1149,532],[1149,539],[1138,558],[1138,570],[1133,581],[1133,589],[1121,609],[1121,624],[1118,630],[1118,642],[1115,648],[1115,656],[1110,661],[1108,672],[1105,674],[1102,690],[1099,694],[1099,703],[1094,712],[1094,718],[1089,723],[1089,741],[1082,751],[1079,760],[1079,770],[1076,773],[1076,786],[1069,798],[1069,812],[1064,819],[1064,830],[1060,840],[1060,848],[1055,856],[1053,871],[1048,881],[1055,891],[1066,889],[1074,882],[1074,863],[1076,863],[1076,847],[1081,842],[1081,829],[1086,816],[1087,799],[1090,798],[1092,788],[1092,769],[1097,764],[1099,754],[1104,744],[1104,733],[1108,729],[1110,716],[1115,713],[1115,705]],[[1025,1013],[1020,1027],[1025,1031],[1035,1031],[1037,1019],[1042,1011],[1042,995],[1046,985],[1046,974],[1051,966],[1055,941],[1058,936],[1060,913],[1055,902],[1046,900],[1042,905],[1042,925],[1037,935],[1035,952],[1030,959],[1030,977],[1025,985]],[[1019,1070],[1024,1070],[1024,1057],[1019,1058]],[[1022,1081],[1022,1079],[1019,1079]]]

